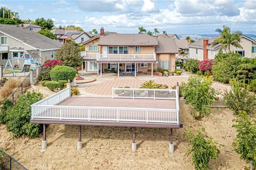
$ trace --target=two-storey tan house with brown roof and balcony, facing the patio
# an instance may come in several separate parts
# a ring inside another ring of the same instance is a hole
[[[86,71],[99,71],[100,68],[101,71],[114,69],[136,73],[156,68],[175,71],[178,48],[173,38],[104,32],[101,28],[99,36],[82,45],[85,45],[82,56]]]

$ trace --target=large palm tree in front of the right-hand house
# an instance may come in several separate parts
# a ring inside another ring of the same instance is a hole
[[[220,33],[219,38],[215,39],[212,43],[212,46],[221,44],[220,50],[228,50],[230,52],[230,46],[233,45],[236,48],[243,49],[239,44],[241,42],[240,36],[242,35],[241,31],[236,31],[231,33],[230,28],[226,25],[223,25],[223,30],[220,28],[216,29],[216,32]]]

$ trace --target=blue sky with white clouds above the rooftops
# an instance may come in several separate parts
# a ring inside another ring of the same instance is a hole
[[[18,12],[21,19],[52,19],[55,26],[76,25],[85,31],[138,33],[158,28],[167,33],[216,33],[231,30],[256,33],[256,0],[93,0],[4,1],[1,6]]]

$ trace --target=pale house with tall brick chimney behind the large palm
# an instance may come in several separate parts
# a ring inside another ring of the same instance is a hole
[[[221,44],[212,46],[212,43],[217,37],[204,38],[188,45],[189,47],[189,58],[195,58],[197,60],[214,59],[215,55],[219,53]],[[235,53],[239,53],[242,57],[255,58],[256,57],[256,41],[252,38],[242,35],[240,45],[243,49],[238,49],[234,46],[230,46],[230,50]],[[225,50],[222,50],[225,53]]]

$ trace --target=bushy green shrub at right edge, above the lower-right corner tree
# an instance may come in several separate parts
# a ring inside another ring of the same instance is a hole
[[[244,83],[241,87],[241,83],[237,80],[230,81],[230,85],[232,90],[226,90],[223,98],[228,108],[235,111],[237,114],[244,112],[249,114],[255,113],[256,95],[250,94]]]

